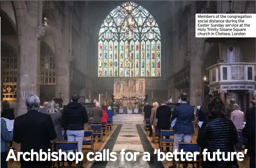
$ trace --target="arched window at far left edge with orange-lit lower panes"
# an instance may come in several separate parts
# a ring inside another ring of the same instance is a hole
[[[17,91],[17,54],[1,43],[2,100],[15,101]]]

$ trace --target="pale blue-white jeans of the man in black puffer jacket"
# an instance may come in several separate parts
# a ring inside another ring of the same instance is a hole
[[[82,141],[84,130],[71,131],[66,130],[67,142],[78,142],[78,152],[82,152]],[[72,151],[68,151],[72,152]]]

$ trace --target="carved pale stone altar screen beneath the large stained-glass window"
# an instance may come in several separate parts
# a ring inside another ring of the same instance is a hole
[[[135,106],[136,99],[139,102],[145,98],[145,79],[144,78],[114,78],[114,100],[126,108],[127,103],[131,101],[132,108]]]

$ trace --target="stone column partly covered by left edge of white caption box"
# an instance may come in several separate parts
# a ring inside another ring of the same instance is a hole
[[[189,77],[189,104],[192,106],[201,105],[201,85],[202,85],[202,74],[201,74],[201,65],[202,65],[202,54],[204,47],[204,39],[203,38],[195,38],[195,11],[196,6],[192,3],[190,12],[188,14],[188,25],[187,29],[187,39],[188,45],[190,47],[187,53],[187,56],[190,57],[190,77]],[[197,94],[196,94],[197,93]],[[194,108],[194,110],[196,110]]]

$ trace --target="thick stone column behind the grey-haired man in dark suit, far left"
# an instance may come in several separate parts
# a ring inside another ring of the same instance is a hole
[[[18,50],[18,75],[17,75],[17,101],[15,116],[27,112],[25,99],[29,94],[39,97],[40,79],[40,41],[38,34],[41,27],[42,1],[28,1],[28,22],[18,25],[19,50]],[[23,99],[22,94],[23,93]]]

